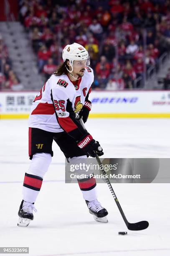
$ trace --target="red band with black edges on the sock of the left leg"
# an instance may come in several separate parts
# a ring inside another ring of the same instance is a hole
[[[25,172],[24,178],[24,187],[28,187],[29,189],[33,189],[36,191],[40,191],[43,179],[39,176],[28,174]]]

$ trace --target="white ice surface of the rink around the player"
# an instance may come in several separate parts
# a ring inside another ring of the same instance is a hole
[[[170,157],[169,119],[89,119],[86,126],[104,148],[104,157]],[[64,183],[64,156],[55,143],[53,151],[35,219],[27,228],[18,227],[30,163],[27,120],[0,120],[0,247],[29,246],[32,256],[170,255],[169,184],[113,184],[129,222],[149,221],[142,231],[127,230],[107,184],[98,184],[109,223],[97,223],[78,185]],[[119,236],[119,231],[128,235]]]

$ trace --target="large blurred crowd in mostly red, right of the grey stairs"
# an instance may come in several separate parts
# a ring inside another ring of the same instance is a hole
[[[89,51],[95,89],[133,88],[138,77],[142,87],[144,71],[158,70],[170,50],[170,0],[21,0],[20,20],[39,72],[48,78],[63,47],[77,42]]]

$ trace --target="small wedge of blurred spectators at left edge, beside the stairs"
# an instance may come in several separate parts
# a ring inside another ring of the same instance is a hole
[[[22,90],[23,85],[13,71],[12,62],[10,60],[7,46],[4,44],[2,35],[0,34],[0,90]]]

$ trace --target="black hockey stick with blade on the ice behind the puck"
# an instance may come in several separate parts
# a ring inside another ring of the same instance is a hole
[[[82,119],[80,119],[80,123],[81,123],[81,125],[83,126],[83,128],[86,130]],[[96,160],[97,160],[99,166],[102,167],[102,168],[100,168],[100,170],[101,170],[102,174],[104,174],[104,177],[106,177],[106,172],[104,171],[104,167],[103,167],[103,165],[101,164],[101,161],[100,161],[100,159],[99,159],[99,156],[97,155],[97,153],[95,153],[95,155],[96,155]],[[117,196],[115,195],[114,190],[113,190],[113,188],[112,188],[112,185],[111,185],[111,183],[109,182],[109,179],[108,179],[107,177],[105,178],[105,181],[107,182],[107,185],[108,185],[108,187],[109,187],[109,189],[110,189],[110,191],[111,191],[111,193],[112,193],[112,196],[113,196],[113,198],[114,198],[114,201],[115,201],[116,204],[117,204],[117,207],[118,207],[118,209],[119,209],[119,212],[121,213],[122,218],[123,218],[125,224],[127,225],[127,228],[128,228],[129,230],[143,230],[143,229],[147,228],[147,227],[149,226],[149,223],[148,223],[148,221],[146,221],[146,220],[143,220],[143,221],[140,221],[140,222],[137,222],[137,223],[129,223],[129,222],[128,222],[126,216],[124,215],[124,212],[123,212],[123,210],[122,210],[122,207],[121,207],[121,205],[120,205],[120,203],[119,203],[119,200],[117,199]]]

